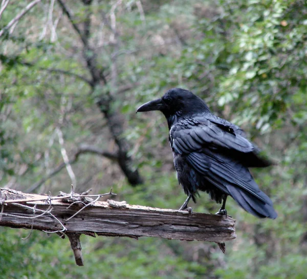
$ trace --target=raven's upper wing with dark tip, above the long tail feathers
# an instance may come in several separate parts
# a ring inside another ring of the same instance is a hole
[[[221,150],[247,167],[268,167],[273,163],[260,155],[238,126],[213,114],[179,119],[170,129],[170,143],[179,154],[203,147]]]

